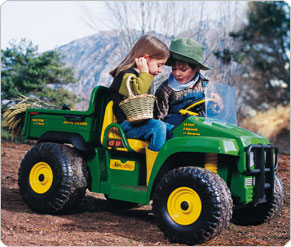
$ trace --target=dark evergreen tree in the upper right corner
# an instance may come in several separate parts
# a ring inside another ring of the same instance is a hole
[[[244,66],[260,100],[290,100],[290,9],[283,1],[250,2],[247,23],[230,32],[236,46],[216,52],[223,63]],[[263,96],[263,97],[262,97]]]

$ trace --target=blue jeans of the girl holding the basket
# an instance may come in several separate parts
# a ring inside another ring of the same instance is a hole
[[[148,141],[148,149],[159,151],[164,143],[173,137],[174,125],[157,119],[149,119],[142,124],[131,124],[125,120],[121,123],[121,127],[127,138]]]

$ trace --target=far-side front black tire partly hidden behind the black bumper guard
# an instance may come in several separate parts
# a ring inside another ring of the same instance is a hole
[[[280,176],[274,176],[274,197],[265,203],[234,208],[232,222],[237,225],[260,225],[276,217],[284,206],[286,189]]]

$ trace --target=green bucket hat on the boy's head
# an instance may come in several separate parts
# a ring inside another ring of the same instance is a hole
[[[202,70],[209,70],[203,64],[204,47],[190,38],[173,39],[170,45],[170,57],[166,65],[171,66],[172,60],[179,60],[193,65],[200,65]]]

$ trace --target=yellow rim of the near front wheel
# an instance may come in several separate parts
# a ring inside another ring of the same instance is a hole
[[[200,216],[202,203],[199,195],[189,187],[179,187],[169,196],[170,217],[179,225],[193,224]]]

